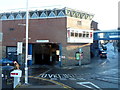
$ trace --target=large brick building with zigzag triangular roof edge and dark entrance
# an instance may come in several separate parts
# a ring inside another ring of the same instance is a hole
[[[29,50],[32,64],[76,65],[75,53],[84,53],[82,64],[90,63],[93,43],[93,14],[70,8],[29,11]],[[26,12],[0,13],[3,30],[3,56],[17,59],[17,43],[25,51]],[[24,62],[24,59],[19,61]]]

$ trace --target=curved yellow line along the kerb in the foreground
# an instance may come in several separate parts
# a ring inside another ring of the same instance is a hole
[[[36,79],[41,79],[41,80],[46,80],[46,81],[50,81],[50,82],[53,82],[53,83],[55,83],[57,85],[61,85],[61,86],[63,86],[63,88],[66,88],[68,90],[75,90],[74,88],[72,88],[70,86],[67,86],[67,85],[65,85],[63,83],[60,83],[60,82],[57,82],[57,81],[54,81],[54,80],[50,80],[50,79],[46,79],[46,78],[40,78],[40,77],[34,77],[34,76],[29,76],[29,77],[36,78]]]

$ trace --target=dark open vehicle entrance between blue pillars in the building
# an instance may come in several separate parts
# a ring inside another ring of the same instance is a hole
[[[33,61],[34,64],[55,65],[59,61],[59,44],[39,43],[33,44]]]

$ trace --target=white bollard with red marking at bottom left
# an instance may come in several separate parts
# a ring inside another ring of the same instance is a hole
[[[13,70],[10,73],[11,77],[14,77],[14,88],[20,83],[20,77],[22,76],[22,70]]]

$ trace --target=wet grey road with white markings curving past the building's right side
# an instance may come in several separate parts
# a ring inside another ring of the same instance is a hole
[[[118,55],[112,43],[107,44],[107,59],[93,58],[91,64],[79,67],[53,68],[39,77],[55,80],[72,88],[93,90],[116,89],[118,82]]]

